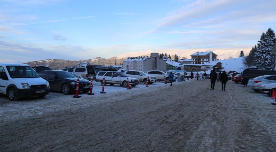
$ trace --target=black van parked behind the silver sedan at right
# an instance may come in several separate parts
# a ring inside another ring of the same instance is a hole
[[[274,75],[274,74],[276,75],[276,70],[251,70],[251,68],[245,69],[243,70],[242,82],[240,84],[247,85],[249,79],[255,78],[257,76]]]

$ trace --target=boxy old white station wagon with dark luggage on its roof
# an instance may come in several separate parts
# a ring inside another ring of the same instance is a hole
[[[115,69],[109,71],[99,71],[96,75],[96,82],[101,82],[101,84],[103,85],[104,77],[105,85],[120,84],[123,85],[123,87],[128,88],[128,82],[129,85],[131,85],[132,87],[135,87],[137,84],[139,84],[139,79],[128,77],[128,75],[125,72],[118,72]]]

